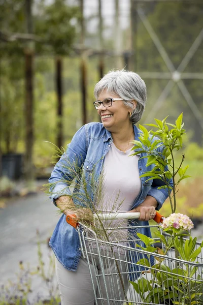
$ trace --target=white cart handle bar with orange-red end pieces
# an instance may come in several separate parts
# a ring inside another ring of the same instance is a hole
[[[115,213],[115,214],[95,214],[95,219],[100,218],[101,220],[113,220],[113,219],[139,219],[140,212],[124,212],[124,213]],[[164,217],[156,212],[156,216],[154,217],[154,221],[159,224],[163,222]],[[78,218],[75,214],[69,214],[66,216],[66,222],[77,229],[79,222]]]

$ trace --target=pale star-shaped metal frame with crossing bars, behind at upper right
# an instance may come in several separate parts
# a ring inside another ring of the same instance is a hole
[[[167,1],[167,0],[159,0],[159,1]],[[144,2],[150,2],[150,0],[144,0]],[[161,41],[159,40],[156,32],[154,31],[152,25],[150,24],[143,9],[137,7],[136,11],[168,69],[168,72],[142,72],[142,71],[138,72],[143,78],[168,80],[166,86],[163,88],[161,95],[159,96],[156,103],[153,105],[153,108],[149,112],[149,115],[147,116],[145,123],[147,122],[149,123],[149,121],[154,117],[154,115],[160,109],[163,102],[170,94],[171,90],[173,89],[176,83],[183,97],[185,98],[188,106],[190,107],[192,113],[194,114],[196,120],[198,121],[201,129],[203,130],[203,116],[198,110],[193,98],[191,97],[186,85],[183,82],[183,79],[203,79],[203,73],[184,72],[185,68],[190,62],[190,59],[194,56],[194,53],[196,52],[196,50],[198,49],[199,45],[203,40],[203,28],[201,29],[200,33],[197,35],[196,39],[192,43],[188,52],[182,59],[182,62],[180,63],[179,67],[175,69],[172,60],[170,59],[170,56],[167,54],[165,48],[163,47]]]

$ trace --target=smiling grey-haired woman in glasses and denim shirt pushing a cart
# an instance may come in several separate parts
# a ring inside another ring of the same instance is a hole
[[[105,199],[110,195],[115,197],[116,191],[119,191],[122,201],[119,210],[140,212],[139,225],[147,225],[148,220],[154,218],[155,210],[160,209],[167,198],[167,191],[158,190],[159,180],[154,180],[152,184],[152,180],[140,178],[147,171],[147,159],[141,159],[142,154],[129,157],[133,147],[131,141],[138,140],[140,133],[134,124],[141,119],[145,108],[145,82],[134,72],[111,71],[95,85],[94,95],[94,106],[101,123],[86,124],[74,135],[49,179],[51,183],[56,182],[52,200],[64,214],[72,210],[78,219],[91,218],[89,208],[76,209],[71,190],[62,182],[64,176],[69,180],[74,178],[65,170],[65,159],[77,159],[86,177],[93,169],[95,178],[104,171]],[[106,211],[111,210],[114,199],[108,201]],[[150,236],[149,229],[141,232]],[[65,215],[53,232],[50,246],[57,258],[56,274],[62,305],[93,305],[88,264],[81,257],[78,233],[66,223]],[[128,279],[125,279],[125,286],[128,286]]]

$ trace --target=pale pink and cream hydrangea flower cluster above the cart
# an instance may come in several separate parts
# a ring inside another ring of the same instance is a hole
[[[173,213],[169,217],[164,218],[162,228],[174,227],[176,229],[191,230],[194,225],[187,215],[181,213]]]

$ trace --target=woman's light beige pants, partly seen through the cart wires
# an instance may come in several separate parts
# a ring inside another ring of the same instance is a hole
[[[118,254],[115,253],[118,257]],[[124,255],[120,254],[119,259],[124,260]],[[89,257],[91,262],[91,257]],[[98,256],[94,256],[95,264],[96,264],[96,272],[98,275],[101,274],[100,264],[98,260]],[[103,277],[99,277],[99,289],[97,289],[96,284],[96,277],[95,277],[95,268],[92,264],[91,265],[91,273],[93,276],[93,282],[95,291],[97,291],[97,297],[99,297],[99,291],[102,293],[102,297],[106,299],[106,290],[105,290],[105,283]],[[105,267],[105,274],[106,273],[118,273],[117,267],[115,266],[115,260],[108,260],[108,262],[104,262]],[[126,271],[125,263],[119,261],[119,269],[122,273],[123,282],[125,285],[125,291],[127,293],[129,282],[127,279],[126,274],[123,272]],[[59,293],[61,298],[61,305],[94,305],[95,297],[94,291],[92,286],[92,280],[90,277],[90,271],[87,259],[84,259],[81,256],[77,271],[69,271],[63,267],[63,265],[56,259],[56,277],[59,287]],[[120,283],[118,276],[108,276],[106,278],[107,288],[108,288],[108,295],[109,298],[117,299],[117,300],[124,300],[124,292]],[[114,278],[114,279],[113,279]],[[113,281],[112,281],[113,280]],[[114,283],[115,282],[115,283]],[[113,295],[112,295],[113,294]],[[97,300],[97,304],[107,304],[107,301],[104,300]],[[110,301],[110,304],[121,304],[121,302]]]

